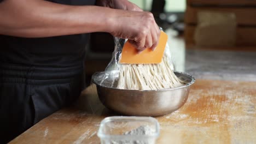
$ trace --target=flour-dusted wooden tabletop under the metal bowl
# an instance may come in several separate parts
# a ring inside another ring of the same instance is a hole
[[[256,82],[196,80],[181,109],[157,117],[157,143],[256,143]],[[79,108],[60,110],[10,143],[100,143],[104,117],[116,115],[98,101],[94,85]]]

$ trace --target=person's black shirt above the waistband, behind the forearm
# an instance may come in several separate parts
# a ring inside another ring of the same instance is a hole
[[[50,0],[50,2],[68,5],[95,4],[95,0]],[[49,67],[82,65],[88,37],[89,34],[48,38],[0,35],[0,63]]]

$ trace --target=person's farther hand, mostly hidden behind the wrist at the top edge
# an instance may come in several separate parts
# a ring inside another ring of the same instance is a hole
[[[131,3],[128,0],[97,0],[96,4],[112,9],[143,11],[136,4]]]

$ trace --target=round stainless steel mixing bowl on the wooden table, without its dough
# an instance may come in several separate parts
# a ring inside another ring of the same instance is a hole
[[[112,88],[100,85],[104,72],[92,75],[92,82],[97,86],[102,104],[110,110],[133,116],[162,116],[184,105],[190,86],[195,82],[195,78],[187,73],[174,73],[185,82],[184,86],[151,91]]]

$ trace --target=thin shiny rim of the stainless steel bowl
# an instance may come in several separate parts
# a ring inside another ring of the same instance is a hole
[[[186,85],[184,86],[181,86],[181,87],[176,87],[176,88],[166,88],[166,89],[156,89],[156,90],[133,90],[133,89],[120,89],[120,88],[113,88],[113,87],[107,87],[107,86],[103,86],[103,85],[99,85],[96,81],[95,81],[95,75],[98,74],[98,73],[104,73],[104,71],[99,71],[99,72],[96,72],[92,75],[92,82],[95,83],[95,85],[97,86],[101,86],[101,87],[105,87],[105,88],[110,88],[110,89],[120,89],[122,91],[130,91],[130,92],[158,92],[158,91],[168,91],[168,90],[174,90],[174,89],[180,89],[180,88],[184,88],[184,87],[189,87],[190,85],[192,85],[193,83],[195,83],[195,77],[188,74],[188,73],[185,73],[185,72],[181,72],[181,71],[173,71],[174,73],[179,73],[179,74],[183,74],[183,75],[187,75],[188,77],[191,78],[191,81],[189,83],[187,83]]]

